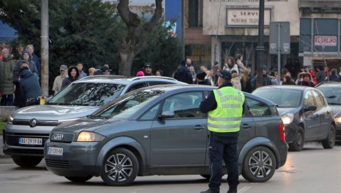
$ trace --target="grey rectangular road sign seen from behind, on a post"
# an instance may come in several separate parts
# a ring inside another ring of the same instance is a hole
[[[290,23],[270,22],[269,52],[272,55],[290,54]]]

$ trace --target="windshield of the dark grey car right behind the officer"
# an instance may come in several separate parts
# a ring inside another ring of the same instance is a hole
[[[300,106],[302,99],[300,90],[260,89],[255,90],[252,94],[272,101],[279,108],[296,108]]]

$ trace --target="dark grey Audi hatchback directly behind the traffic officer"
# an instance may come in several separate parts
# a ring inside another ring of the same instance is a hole
[[[46,166],[74,182],[101,176],[107,185],[129,185],[136,176],[210,178],[207,114],[199,106],[213,89],[165,85],[120,96],[53,129],[45,143]],[[287,144],[274,103],[245,93],[238,155],[240,173],[252,182],[269,180],[284,165]]]

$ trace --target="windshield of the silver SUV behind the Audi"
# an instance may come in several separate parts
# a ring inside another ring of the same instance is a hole
[[[103,106],[117,98],[126,85],[74,83],[48,101],[49,105]]]

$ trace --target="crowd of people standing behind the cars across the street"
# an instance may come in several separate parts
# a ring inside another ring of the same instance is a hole
[[[17,56],[17,59],[14,57]],[[295,60],[296,61],[296,60]],[[296,61],[297,63],[297,61]],[[328,71],[326,66],[300,66],[286,64],[281,71],[281,79],[278,80],[277,70],[269,71],[268,65],[263,65],[263,85],[304,85],[314,87],[324,81],[341,81],[341,72],[337,69]],[[198,69],[196,69],[198,68]],[[251,93],[256,89],[256,73],[252,73],[251,66],[243,63],[242,55],[227,57],[224,64],[215,62],[211,69],[205,65],[194,65],[191,59],[180,62],[180,65],[171,75],[176,80],[188,84],[214,85],[217,86],[220,71],[231,73],[231,83],[237,90]],[[34,46],[17,45],[15,52],[10,53],[10,49],[3,48],[0,57],[0,105],[17,106],[21,108],[27,106],[27,99],[41,96],[41,86],[39,84],[41,64],[39,58],[34,53]],[[50,94],[57,94],[64,87],[75,80],[86,76],[109,75],[111,72],[108,64],[95,66],[85,71],[82,62],[75,65],[59,66],[59,76],[55,78]],[[294,74],[294,76],[292,76]],[[146,62],[136,76],[164,76],[164,71],[154,71],[153,65]]]

